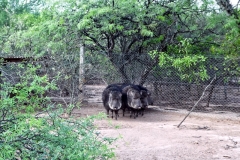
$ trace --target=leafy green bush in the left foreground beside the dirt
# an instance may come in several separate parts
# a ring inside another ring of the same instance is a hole
[[[102,136],[93,125],[104,115],[63,119],[61,107],[44,97],[48,89],[56,89],[55,84],[47,76],[37,76],[33,66],[21,74],[19,83],[12,85],[3,78],[0,86],[0,159],[114,157],[109,147],[114,139]]]

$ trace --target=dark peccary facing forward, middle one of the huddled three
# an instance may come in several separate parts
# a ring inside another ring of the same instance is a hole
[[[138,110],[142,108],[141,94],[137,86],[132,84],[122,85],[122,110],[123,116],[126,109],[129,109],[131,114],[130,117],[137,117]]]

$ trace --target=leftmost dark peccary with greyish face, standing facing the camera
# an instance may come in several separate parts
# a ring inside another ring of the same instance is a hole
[[[117,120],[118,111],[122,107],[122,91],[121,88],[117,85],[109,85],[107,86],[102,93],[102,101],[103,106],[107,111],[107,115],[109,116],[109,110],[115,112],[115,119]]]

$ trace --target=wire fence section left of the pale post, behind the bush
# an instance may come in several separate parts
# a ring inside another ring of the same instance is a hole
[[[12,57],[11,59],[17,59]],[[21,83],[23,73],[29,65],[36,67],[38,76],[47,75],[48,80],[57,86],[57,90],[48,90],[44,95],[53,102],[68,106],[79,101],[79,55],[65,57],[18,58],[19,62],[0,62],[0,82],[8,82],[12,86]]]

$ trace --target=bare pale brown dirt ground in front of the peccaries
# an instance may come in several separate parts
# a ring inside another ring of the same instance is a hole
[[[105,112],[104,108],[82,107],[78,116]],[[104,136],[117,137],[117,160],[213,160],[240,159],[240,113],[187,112],[151,106],[136,119],[120,112],[118,120],[98,120]]]

